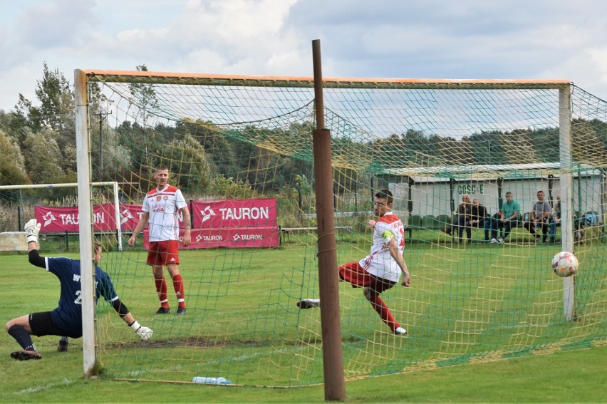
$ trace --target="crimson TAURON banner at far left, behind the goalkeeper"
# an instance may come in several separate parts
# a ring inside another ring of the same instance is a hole
[[[115,230],[113,204],[98,204],[93,207],[93,229]],[[78,207],[34,207],[34,216],[40,223],[40,232],[78,232]]]

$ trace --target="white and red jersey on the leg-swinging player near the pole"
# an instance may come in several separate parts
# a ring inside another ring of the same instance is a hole
[[[405,227],[393,212],[386,212],[375,222],[371,254],[358,261],[358,264],[366,269],[369,274],[398,282],[401,271],[400,266],[390,255],[390,249],[388,249],[388,243],[391,239],[396,239],[396,247],[402,254],[403,249],[405,249]]]

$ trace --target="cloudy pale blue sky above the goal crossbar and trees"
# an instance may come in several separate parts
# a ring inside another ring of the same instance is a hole
[[[43,63],[324,77],[567,79],[607,99],[604,0],[0,0],[0,110]]]

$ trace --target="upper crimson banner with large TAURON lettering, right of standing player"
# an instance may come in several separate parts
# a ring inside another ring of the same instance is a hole
[[[276,227],[276,200],[219,200],[192,202],[194,229]]]

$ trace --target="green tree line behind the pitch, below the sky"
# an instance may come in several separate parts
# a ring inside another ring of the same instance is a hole
[[[147,71],[145,65],[137,66]],[[141,123],[125,121],[116,128],[105,122],[105,96],[95,83],[89,88],[93,177],[95,181],[137,182],[150,187],[150,167],[163,163],[176,174],[176,185],[196,196],[226,194],[249,190],[249,195],[271,195],[284,187],[293,190],[302,181],[312,184],[311,130],[313,123],[291,124],[286,129],[263,129],[248,126],[225,130],[212,122],[178,121],[175,125],[146,124],[146,110],[153,110],[157,100],[151,85],[130,84],[133,99],[138,100],[144,115]],[[19,94],[14,110],[0,110],[0,147],[6,156],[0,160],[0,184],[44,184],[76,182],[76,145],[74,93],[71,83],[58,70],[43,64],[42,78],[36,82],[36,100]],[[98,133],[97,133],[98,132]],[[607,161],[607,124],[601,120],[574,121],[576,144],[594,142],[597,164]],[[587,139],[586,139],[587,138]],[[301,147],[265,148],[259,145],[272,140],[274,145],[298,142]],[[368,142],[348,138],[333,139],[336,154],[363,150],[372,156],[365,167],[336,167],[336,182],[343,190],[352,190],[360,176],[357,170],[373,175],[395,165],[515,164],[512,143],[530,147],[542,162],[559,161],[558,128],[518,129],[474,133],[462,138],[407,130],[387,138]],[[307,143],[307,144],[306,144]],[[602,148],[600,147],[602,145]],[[516,147],[516,145],[514,145]],[[574,150],[574,157],[576,157]],[[597,155],[598,153],[598,155]],[[103,157],[102,157],[103,154]],[[588,150],[578,152],[579,157]],[[347,160],[347,157],[346,157]],[[228,192],[228,190],[230,190]],[[73,192],[70,190],[58,191]]]

